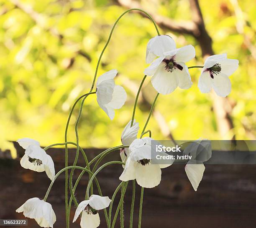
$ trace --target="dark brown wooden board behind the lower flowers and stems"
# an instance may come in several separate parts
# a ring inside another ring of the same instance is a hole
[[[18,148],[19,157],[24,150]],[[85,150],[91,159],[104,149]],[[47,151],[55,163],[56,172],[64,167],[64,149],[51,148]],[[69,150],[70,165],[74,160],[75,150]],[[105,161],[120,160],[119,151],[113,152]],[[79,155],[78,165],[84,166]],[[122,172],[120,165],[110,165],[98,174],[103,195],[110,198],[118,186]],[[74,180],[80,170],[75,172]],[[195,192],[187,179],[184,165],[172,165],[162,169],[162,180],[159,186],[145,189],[143,200],[143,228],[255,228],[256,227],[256,165],[207,165],[200,186]],[[88,178],[83,176],[76,196],[83,200]],[[45,173],[36,173],[23,169],[17,160],[9,159],[8,153],[2,153],[0,158],[0,218],[24,218],[15,209],[28,198],[44,198],[50,184]],[[125,195],[125,227],[129,225],[131,187]],[[120,195],[115,200],[116,208]],[[140,187],[136,185],[136,205],[134,225],[138,222],[138,205]],[[64,209],[64,174],[53,185],[49,194],[49,203],[54,208],[57,221],[54,228],[65,227]],[[71,220],[74,215],[72,207]],[[115,210],[115,209],[114,209]],[[103,211],[102,211],[103,212]],[[105,228],[105,217],[100,213],[100,228]],[[29,219],[29,228],[39,227],[34,220]],[[11,226],[8,226],[11,227]],[[79,228],[79,219],[71,228]],[[116,223],[119,226],[119,221]]]

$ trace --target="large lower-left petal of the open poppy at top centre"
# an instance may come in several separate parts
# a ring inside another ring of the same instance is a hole
[[[165,69],[164,63],[159,65],[159,68],[157,68],[154,76],[151,78],[151,83],[158,93],[169,94],[177,88],[179,79],[175,71],[173,70],[172,73],[168,72]]]

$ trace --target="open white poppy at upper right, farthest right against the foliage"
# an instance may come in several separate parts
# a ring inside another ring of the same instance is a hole
[[[227,54],[212,55],[205,60],[202,73],[198,81],[198,88],[202,93],[209,93],[213,88],[220,97],[226,97],[231,92],[228,76],[238,68],[238,60],[228,59]]]

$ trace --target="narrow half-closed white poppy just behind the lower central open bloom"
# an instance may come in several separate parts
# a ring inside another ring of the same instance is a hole
[[[121,135],[122,144],[131,145],[133,140],[137,138],[138,130],[139,130],[139,125],[138,123],[136,123],[136,120],[133,120],[132,127],[131,127],[131,120],[130,120],[129,123],[123,129],[123,132]],[[128,156],[129,156],[129,148],[122,148],[120,150],[120,157],[123,163],[126,162]],[[123,168],[124,168],[124,165],[123,165]]]

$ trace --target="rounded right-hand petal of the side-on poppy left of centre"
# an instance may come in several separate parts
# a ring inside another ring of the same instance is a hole
[[[110,108],[119,109],[124,105],[126,99],[127,94],[125,92],[125,89],[120,85],[115,85],[112,99],[110,103],[108,103],[108,106]]]

